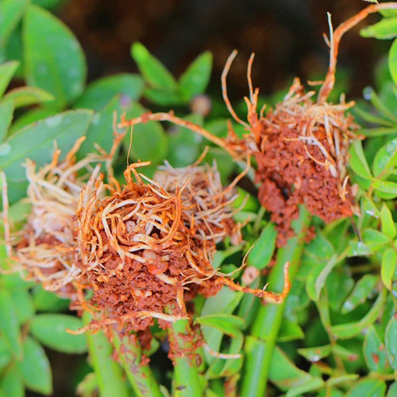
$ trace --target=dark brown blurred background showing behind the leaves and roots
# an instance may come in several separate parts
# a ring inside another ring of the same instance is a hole
[[[220,98],[220,74],[229,54],[237,49],[228,91],[232,100],[240,100],[248,91],[246,67],[251,52],[256,53],[254,85],[261,93],[285,88],[294,76],[303,81],[322,78],[328,66],[322,36],[328,33],[327,11],[335,28],[366,5],[362,0],[68,0],[55,13],[83,47],[88,81],[115,72],[136,72],[130,47],[140,41],[176,77],[199,53],[211,51],[214,66],[208,91]],[[378,19],[370,16],[343,37],[338,67],[344,71],[350,98],[361,97],[363,87],[372,83],[375,62],[390,46],[389,41],[359,36],[361,26]],[[48,353],[53,396],[73,396],[88,371],[85,356]],[[162,359],[168,361],[165,354]]]

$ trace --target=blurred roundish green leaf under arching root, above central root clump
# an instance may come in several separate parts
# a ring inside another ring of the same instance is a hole
[[[138,103],[132,106],[132,117],[140,116],[145,109]],[[128,151],[130,146],[130,133],[124,138],[124,147]],[[141,161],[151,161],[156,165],[163,161],[168,151],[168,139],[163,127],[159,122],[148,121],[147,123],[134,126],[132,132],[131,156]]]

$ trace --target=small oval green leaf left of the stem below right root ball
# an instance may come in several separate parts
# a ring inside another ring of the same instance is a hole
[[[277,232],[274,224],[268,222],[262,229],[258,239],[254,243],[254,247],[248,254],[247,263],[259,269],[265,268],[273,256],[276,245]]]

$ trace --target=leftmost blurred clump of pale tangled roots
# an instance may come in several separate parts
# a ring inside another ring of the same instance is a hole
[[[89,165],[95,160],[93,156],[75,161],[83,140],[76,141],[63,161],[59,161],[61,151],[56,149],[51,163],[39,170],[33,161],[26,160],[27,201],[32,209],[24,228],[13,236],[15,252],[10,255],[27,272],[28,279],[65,296],[74,294],[70,283],[80,273],[72,216],[84,183],[92,192],[99,174],[99,166]],[[77,176],[84,171],[85,175]]]

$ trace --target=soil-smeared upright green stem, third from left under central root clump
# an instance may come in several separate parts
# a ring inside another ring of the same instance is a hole
[[[171,352],[174,354],[174,397],[199,397],[202,390],[196,364],[196,350],[192,344],[189,320],[171,324],[168,331]]]

